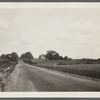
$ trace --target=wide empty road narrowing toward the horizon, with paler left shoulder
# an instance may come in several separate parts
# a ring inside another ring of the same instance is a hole
[[[31,66],[20,61],[5,91],[100,91],[100,81]]]

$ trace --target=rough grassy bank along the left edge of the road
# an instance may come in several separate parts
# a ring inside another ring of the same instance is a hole
[[[14,70],[16,62],[0,63],[0,88],[4,91],[5,84],[9,79],[10,73]]]

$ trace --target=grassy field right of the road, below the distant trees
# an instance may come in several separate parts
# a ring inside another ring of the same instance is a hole
[[[100,79],[100,64],[57,65],[56,61],[41,61],[36,66]]]

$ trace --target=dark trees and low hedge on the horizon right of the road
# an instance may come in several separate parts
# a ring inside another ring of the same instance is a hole
[[[41,54],[39,55],[39,59],[44,59],[44,60],[67,60],[68,62],[72,64],[98,64],[100,63],[100,58],[98,59],[90,59],[90,58],[82,58],[82,59],[72,59],[69,58],[68,56],[61,56],[58,52],[49,50],[47,51],[46,54]]]

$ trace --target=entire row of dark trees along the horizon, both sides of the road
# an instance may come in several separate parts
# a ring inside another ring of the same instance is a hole
[[[33,55],[31,52],[26,52],[23,53],[20,57],[16,52],[12,52],[11,54],[2,54],[0,56],[0,62],[10,62],[10,61],[16,61],[21,59],[24,62],[27,63],[33,63]],[[99,59],[89,59],[89,58],[83,58],[83,59],[72,59],[69,58],[68,56],[61,56],[58,52],[54,50],[49,50],[47,51],[46,54],[41,54],[39,55],[39,59],[41,60],[68,60],[71,63],[85,63],[85,64],[93,64],[93,63],[100,63],[100,58]]]

